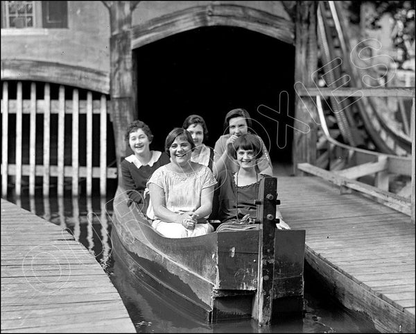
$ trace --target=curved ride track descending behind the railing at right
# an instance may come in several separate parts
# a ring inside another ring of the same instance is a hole
[[[352,57],[357,57],[356,51],[352,50],[349,44],[351,37],[346,28],[347,24],[344,22],[345,17],[339,13],[340,3],[337,3],[337,1],[320,2],[318,9],[318,42],[325,76],[327,76],[325,81],[329,82],[328,87],[336,89],[336,87],[345,86],[347,84],[345,82],[347,81],[346,78],[349,78],[349,84],[359,89],[363,87],[361,78],[364,75],[371,78],[376,75],[368,68],[363,72],[363,69],[358,69],[357,66],[352,64]],[[338,45],[339,49],[336,49],[335,45]],[[340,60],[338,65],[331,61],[337,58]],[[376,150],[381,153],[397,156],[406,156],[411,153],[412,142],[410,137],[401,132],[399,128],[395,128],[391,120],[388,119],[386,115],[389,111],[385,101],[376,97],[349,99],[355,99],[354,108],[351,108],[353,103],[346,106],[348,100],[337,103],[333,97],[330,99],[331,109],[345,142],[351,147],[357,147],[362,144],[364,135],[369,137]],[[361,125],[363,130],[359,133],[357,129]]]

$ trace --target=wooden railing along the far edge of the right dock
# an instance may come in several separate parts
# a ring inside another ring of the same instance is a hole
[[[351,97],[354,94],[359,96],[394,96],[394,97],[411,97],[413,98],[413,107],[411,112],[411,139],[412,139],[412,156],[400,157],[394,155],[387,155],[377,153],[374,151],[367,151],[350,147],[334,140],[329,134],[323,111],[320,104],[321,97]],[[332,183],[340,185],[341,192],[345,190],[356,190],[367,196],[370,196],[381,203],[384,203],[391,208],[395,208],[406,215],[410,215],[413,224],[415,224],[415,87],[389,87],[389,88],[356,88],[343,87],[332,90],[330,88],[311,87],[299,91],[300,97],[305,99],[309,97],[316,97],[315,106],[320,116],[320,123],[322,131],[324,132],[329,142],[328,158],[331,157],[331,147],[338,148],[346,152],[343,162],[343,167],[337,172],[329,172],[325,169],[310,165],[308,163],[298,164],[297,168],[302,172],[320,176]],[[354,163],[355,162],[355,163]],[[354,166],[355,165],[355,166]],[[339,169],[339,168],[337,168]],[[386,191],[388,189],[388,173],[403,174],[411,176],[411,199],[398,196]],[[376,185],[373,187],[358,181],[352,181],[354,178],[361,176],[376,174]]]

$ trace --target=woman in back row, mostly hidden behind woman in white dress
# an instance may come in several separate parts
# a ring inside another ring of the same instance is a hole
[[[195,149],[192,151],[191,161],[208,166],[212,170],[214,162],[214,149],[205,146],[204,142],[208,139],[208,129],[205,120],[200,115],[189,115],[182,128],[191,133]]]

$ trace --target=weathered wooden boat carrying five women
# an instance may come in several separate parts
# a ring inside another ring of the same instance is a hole
[[[302,315],[304,230],[275,228],[276,178],[263,178],[255,228],[172,239],[151,227],[119,188],[112,247],[128,272],[205,322]]]

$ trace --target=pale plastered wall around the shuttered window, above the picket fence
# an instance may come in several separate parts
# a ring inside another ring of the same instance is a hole
[[[68,1],[68,28],[1,29],[1,60],[40,60],[110,73],[110,14],[101,1]]]

